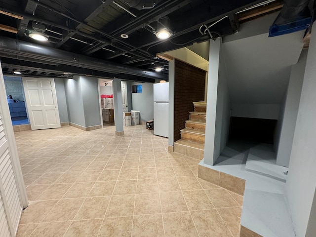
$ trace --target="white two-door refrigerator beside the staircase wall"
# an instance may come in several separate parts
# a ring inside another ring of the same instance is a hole
[[[154,84],[154,134],[168,137],[169,82]]]

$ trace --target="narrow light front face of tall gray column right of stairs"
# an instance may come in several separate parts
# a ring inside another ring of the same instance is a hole
[[[220,48],[221,39],[215,41],[210,40],[206,100],[207,116],[204,143],[204,163],[209,165],[213,165],[217,159],[217,157],[214,158],[214,143]]]

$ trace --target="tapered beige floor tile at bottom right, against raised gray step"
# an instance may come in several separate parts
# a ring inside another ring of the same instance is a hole
[[[218,208],[220,216],[223,218],[228,229],[233,233],[234,237],[239,236],[240,232],[240,218],[241,208],[240,207],[229,207],[229,208]]]

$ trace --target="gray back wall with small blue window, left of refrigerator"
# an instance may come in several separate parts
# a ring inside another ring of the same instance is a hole
[[[132,93],[132,110],[140,111],[140,121],[154,119],[154,84],[132,82],[132,85],[143,85],[142,93]]]

